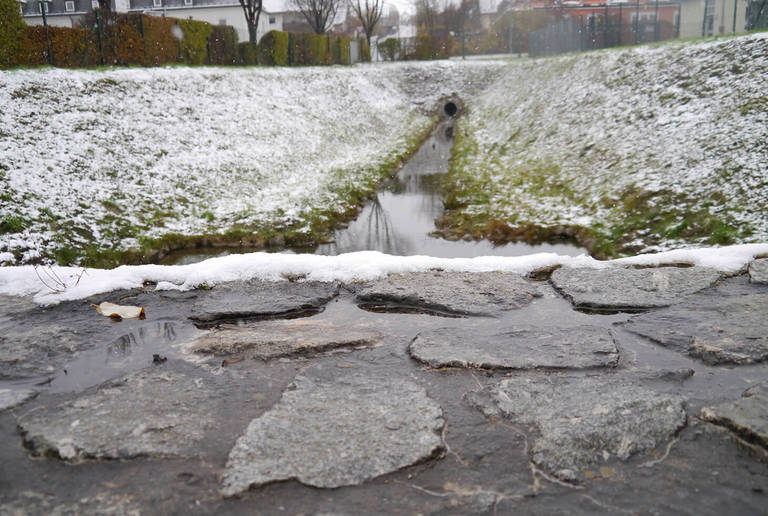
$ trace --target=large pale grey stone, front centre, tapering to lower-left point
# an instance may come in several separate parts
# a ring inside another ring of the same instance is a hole
[[[442,410],[410,380],[302,375],[294,383],[237,440],[222,479],[225,496],[288,479],[360,484],[442,450]]]

